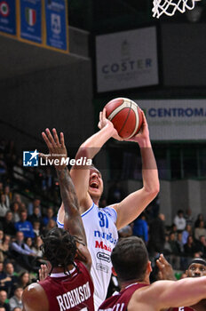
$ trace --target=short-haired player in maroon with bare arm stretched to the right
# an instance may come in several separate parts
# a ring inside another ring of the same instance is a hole
[[[180,281],[157,281],[150,285],[152,271],[147,248],[136,236],[120,240],[111,255],[121,291],[106,299],[99,311],[159,311],[191,306],[205,297],[206,277]]]

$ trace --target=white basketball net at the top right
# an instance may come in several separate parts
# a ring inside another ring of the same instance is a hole
[[[201,0],[153,0],[153,17],[159,19],[162,14],[172,16],[176,11],[193,10],[196,1]]]

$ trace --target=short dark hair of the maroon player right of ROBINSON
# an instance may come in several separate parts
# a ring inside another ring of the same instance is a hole
[[[144,280],[148,253],[145,243],[139,237],[120,239],[112,251],[111,259],[120,281]]]

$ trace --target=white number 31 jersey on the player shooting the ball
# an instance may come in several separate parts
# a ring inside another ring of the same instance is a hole
[[[115,227],[116,211],[112,207],[99,208],[92,204],[82,214],[87,247],[91,253],[91,277],[94,283],[94,306],[98,309],[106,299],[112,273],[111,252],[118,240]],[[64,227],[57,219],[58,227]]]

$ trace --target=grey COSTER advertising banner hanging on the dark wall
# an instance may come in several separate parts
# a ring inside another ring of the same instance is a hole
[[[96,37],[98,92],[158,84],[155,27]]]

